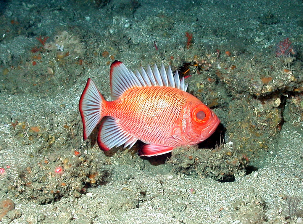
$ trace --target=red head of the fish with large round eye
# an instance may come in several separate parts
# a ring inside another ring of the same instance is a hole
[[[218,116],[200,100],[194,99],[183,109],[182,139],[190,145],[202,142],[215,132],[219,124]]]

